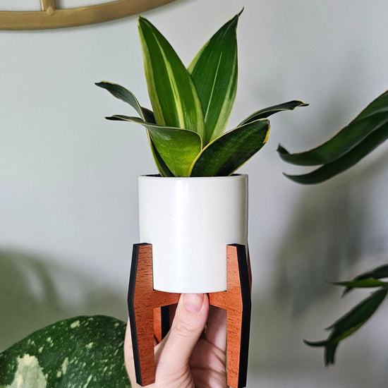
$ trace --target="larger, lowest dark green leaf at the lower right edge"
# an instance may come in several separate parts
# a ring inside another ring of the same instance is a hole
[[[325,347],[325,365],[334,364],[334,356],[337,346],[340,341],[349,337],[356,332],[361,326],[367,322],[370,317],[376,312],[384,298],[387,296],[388,288],[384,287],[364,301],[356,305],[351,311],[346,313],[337,322],[328,329],[332,329],[332,333],[325,341],[304,341],[309,346],[324,346]]]

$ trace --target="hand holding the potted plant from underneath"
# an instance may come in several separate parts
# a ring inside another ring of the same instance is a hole
[[[210,306],[206,294],[182,294],[169,333],[155,344],[155,382],[147,387],[226,388],[225,352],[226,311]],[[124,355],[132,387],[140,387],[129,321]]]

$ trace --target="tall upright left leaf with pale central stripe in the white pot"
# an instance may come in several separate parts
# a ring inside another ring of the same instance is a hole
[[[202,107],[193,80],[163,35],[145,18],[138,26],[145,78],[156,122],[205,138]]]

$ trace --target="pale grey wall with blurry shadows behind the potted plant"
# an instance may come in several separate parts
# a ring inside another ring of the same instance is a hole
[[[274,116],[269,142],[241,169],[254,276],[248,387],[387,387],[388,303],[341,344],[334,368],[302,339],[325,338],[368,295],[341,300],[328,281],[388,262],[388,147],[310,187],[282,176],[301,169],[276,148],[321,143],[387,89],[388,3],[183,0],[145,15],[189,63],[242,6],[230,128],[260,107],[310,102]],[[149,106],[135,17],[0,31],[0,52],[1,350],[62,317],[126,319],[137,176],[156,169],[143,128],[105,121],[130,111],[93,85],[127,85]]]

